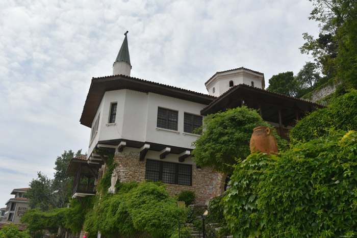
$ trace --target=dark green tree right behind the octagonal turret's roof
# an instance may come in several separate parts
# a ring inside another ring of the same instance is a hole
[[[295,97],[298,94],[298,84],[295,81],[294,73],[288,71],[273,75],[269,80],[267,90]]]

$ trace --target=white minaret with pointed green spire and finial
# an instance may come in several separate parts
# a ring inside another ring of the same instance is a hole
[[[132,69],[132,65],[130,64],[130,56],[129,56],[129,48],[127,47],[127,37],[125,32],[124,41],[120,47],[118,56],[113,64],[113,75],[123,74],[130,76],[130,71]]]

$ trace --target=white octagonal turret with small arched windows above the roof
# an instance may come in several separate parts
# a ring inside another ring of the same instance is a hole
[[[232,82],[231,85],[230,82]],[[218,97],[231,87],[239,84],[264,89],[264,74],[245,68],[227,70],[217,72],[205,85],[208,94]]]

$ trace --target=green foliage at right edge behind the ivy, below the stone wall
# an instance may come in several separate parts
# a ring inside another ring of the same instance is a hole
[[[357,129],[357,92],[340,96],[328,108],[303,118],[291,130],[291,144],[306,142],[328,134],[328,128]]]

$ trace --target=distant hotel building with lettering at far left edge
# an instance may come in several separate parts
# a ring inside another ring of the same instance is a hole
[[[14,189],[11,194],[15,195],[10,198],[6,203],[3,222],[21,224],[20,218],[29,208],[29,199],[23,197],[30,188]]]

